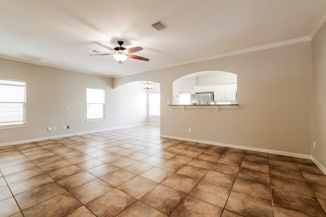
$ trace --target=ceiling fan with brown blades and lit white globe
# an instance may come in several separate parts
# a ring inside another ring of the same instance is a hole
[[[111,48],[111,47],[107,47],[101,43],[98,42],[93,42],[101,47],[104,47],[108,50],[112,50],[115,53],[101,53],[101,54],[90,54],[91,56],[93,55],[113,55],[113,57],[119,62],[119,64],[123,64],[124,60],[127,59],[127,57],[133,58],[133,59],[139,59],[139,60],[144,60],[144,61],[148,61],[148,58],[142,57],[142,56],[137,56],[137,55],[133,55],[130,53],[134,53],[140,50],[143,50],[142,47],[132,47],[132,48],[124,48],[121,47],[123,45],[123,41],[118,41],[119,47],[115,47],[115,48]]]

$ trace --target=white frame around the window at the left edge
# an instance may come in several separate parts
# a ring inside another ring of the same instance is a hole
[[[11,86],[21,86],[23,87],[23,102],[14,102],[14,103],[22,103],[22,122],[23,123],[18,123],[18,124],[10,124],[10,125],[2,125],[0,122],[0,129],[10,129],[10,128],[23,128],[27,127],[27,117],[26,117],[26,80],[25,79],[16,79],[16,78],[4,78],[0,77],[1,81],[14,81],[14,82],[22,82],[23,85],[14,85],[14,84],[8,84]],[[0,82],[1,83],[1,82]],[[0,84],[0,85],[5,85],[5,84]],[[1,102],[0,103],[13,103],[13,102]]]

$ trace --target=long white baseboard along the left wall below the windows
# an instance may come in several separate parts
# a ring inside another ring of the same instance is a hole
[[[57,138],[61,138],[61,137],[76,136],[76,135],[82,135],[82,134],[88,134],[88,133],[96,133],[96,132],[100,132],[100,131],[116,130],[116,129],[121,129],[121,128],[142,126],[142,125],[152,125],[152,124],[151,123],[139,123],[137,125],[128,125],[128,126],[105,128],[105,129],[99,129],[99,130],[93,130],[93,131],[83,131],[83,132],[76,132],[76,133],[70,133],[70,134],[61,134],[61,135],[56,135],[56,136],[39,137],[39,138],[33,138],[33,139],[0,143],[0,147],[8,146],[8,145],[17,145],[17,144],[22,144],[22,143],[27,143],[27,142],[41,141],[41,140],[46,140],[46,139],[57,139]]]

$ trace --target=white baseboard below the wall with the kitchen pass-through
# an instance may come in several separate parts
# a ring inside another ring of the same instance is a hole
[[[271,149],[264,149],[264,148],[253,148],[253,147],[248,147],[248,146],[232,145],[232,144],[198,140],[198,139],[188,139],[188,138],[182,138],[182,137],[176,137],[176,136],[160,135],[160,137],[169,138],[169,139],[178,139],[178,140],[189,141],[189,142],[199,142],[199,143],[205,143],[205,144],[210,144],[210,145],[219,145],[219,146],[230,147],[230,148],[239,148],[239,149],[244,149],[244,150],[274,153],[274,154],[280,154],[280,155],[295,157],[295,158],[311,159],[311,156],[308,154],[292,153],[292,152],[287,152],[287,151],[278,151],[278,150],[271,150]]]

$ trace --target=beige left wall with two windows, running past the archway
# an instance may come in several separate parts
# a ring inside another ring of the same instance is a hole
[[[140,82],[113,89],[112,78],[3,58],[0,58],[0,77],[26,80],[28,123],[24,128],[0,129],[0,145],[146,122],[147,95]],[[86,121],[86,87],[105,88],[105,120]],[[70,129],[58,129],[64,125]],[[48,126],[56,126],[58,130],[47,131]]]

